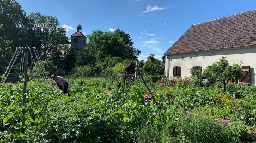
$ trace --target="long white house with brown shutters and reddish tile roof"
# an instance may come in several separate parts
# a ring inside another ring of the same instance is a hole
[[[204,70],[224,56],[242,62],[239,82],[255,85],[256,10],[194,24],[164,55],[168,78],[191,76],[189,69]]]

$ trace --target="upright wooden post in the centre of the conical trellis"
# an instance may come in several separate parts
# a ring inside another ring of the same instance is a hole
[[[24,86],[23,86],[23,104],[24,104],[24,108],[22,109],[22,113],[25,114],[26,110],[26,96],[27,96],[27,82],[28,82],[28,48],[24,48],[25,50],[25,60],[24,60]]]

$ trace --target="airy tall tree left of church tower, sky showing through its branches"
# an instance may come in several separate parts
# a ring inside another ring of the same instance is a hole
[[[39,42],[39,50],[46,57],[53,51],[60,50],[59,46],[68,43],[66,31],[60,27],[57,17],[31,13],[28,15],[35,33],[36,41]]]

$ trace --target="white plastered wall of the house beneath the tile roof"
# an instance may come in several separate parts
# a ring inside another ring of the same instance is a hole
[[[195,53],[167,55],[165,62],[166,77],[173,77],[173,67],[181,67],[181,78],[191,76],[190,68],[193,66],[201,66],[206,69],[211,64],[220,60],[221,57],[227,57],[229,64],[240,64],[242,66],[251,66],[250,82],[255,84],[255,68],[256,68],[256,46],[247,46],[239,48],[225,48],[220,50],[198,51]]]

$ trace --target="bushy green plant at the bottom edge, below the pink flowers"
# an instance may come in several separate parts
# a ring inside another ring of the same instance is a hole
[[[184,116],[178,128],[178,138],[185,142],[235,142],[228,127],[210,116]]]

